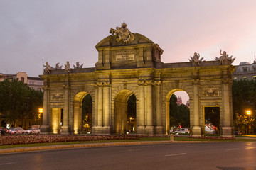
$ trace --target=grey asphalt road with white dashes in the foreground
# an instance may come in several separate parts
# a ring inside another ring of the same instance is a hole
[[[256,169],[256,142],[172,143],[0,154],[0,169]]]

